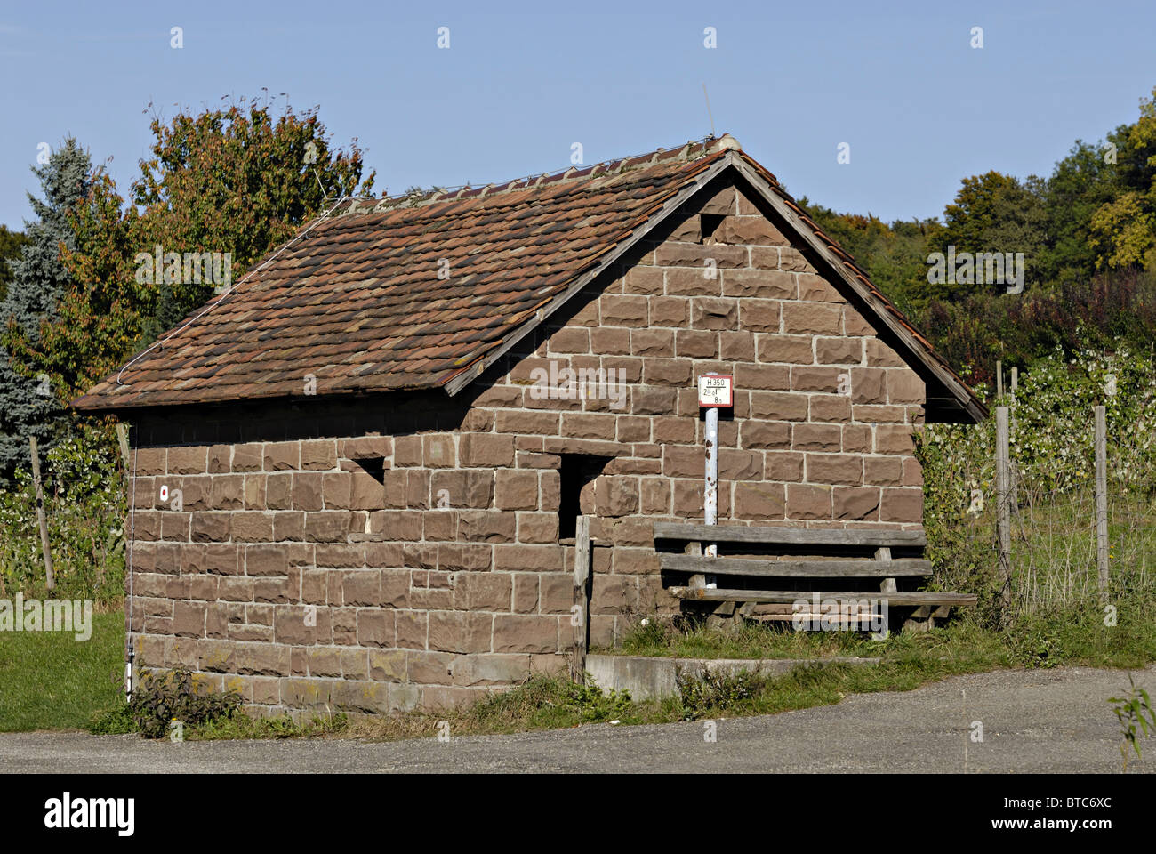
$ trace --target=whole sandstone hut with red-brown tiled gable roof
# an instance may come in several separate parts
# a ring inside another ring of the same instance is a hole
[[[696,377],[720,524],[918,529],[912,432],[983,405],[729,135],[346,199],[73,405],[131,424],[138,667],[257,711],[433,708],[670,612]]]

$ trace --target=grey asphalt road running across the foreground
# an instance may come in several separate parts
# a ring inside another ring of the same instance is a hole
[[[1156,693],[1156,668],[1134,676]],[[959,773],[964,745],[968,773],[1116,773],[1120,729],[1107,698],[1127,686],[1124,671],[1089,668],[979,673],[837,706],[719,720],[714,742],[702,721],[388,743],[0,734],[0,773]],[[973,721],[983,724],[981,742],[969,737]],[[1156,738],[1142,749],[1129,771],[1156,772]]]

